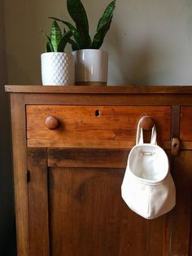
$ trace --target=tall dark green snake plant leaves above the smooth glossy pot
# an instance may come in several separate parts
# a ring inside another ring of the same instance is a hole
[[[86,15],[85,8],[81,0],[67,0],[68,13],[75,22],[75,26],[65,20],[60,20],[55,17],[51,19],[63,22],[70,29],[74,40],[68,38],[68,42],[72,45],[72,50],[80,49],[99,49],[110,29],[113,11],[116,7],[116,0],[113,0],[105,9],[102,17],[98,20],[97,31],[93,40],[89,36],[89,21]]]

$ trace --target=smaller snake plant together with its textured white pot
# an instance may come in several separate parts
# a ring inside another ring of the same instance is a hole
[[[53,20],[50,36],[46,35],[46,52],[41,54],[41,79],[44,86],[74,85],[74,56],[64,52],[71,37],[70,30],[62,33],[57,21]]]

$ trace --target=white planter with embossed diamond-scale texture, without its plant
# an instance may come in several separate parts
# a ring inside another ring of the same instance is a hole
[[[75,84],[75,63],[71,53],[46,52],[41,54],[43,86]]]

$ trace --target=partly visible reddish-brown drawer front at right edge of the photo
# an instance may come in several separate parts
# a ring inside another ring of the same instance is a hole
[[[181,107],[180,139],[192,141],[192,107]]]

